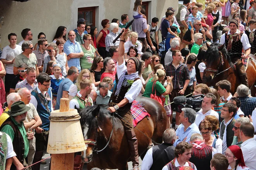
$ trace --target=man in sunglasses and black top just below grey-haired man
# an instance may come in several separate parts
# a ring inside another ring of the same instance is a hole
[[[10,93],[15,92],[17,83],[27,78],[27,69],[28,69],[28,65],[26,63],[22,63],[21,65],[19,65],[19,68],[18,68],[19,74],[12,80],[12,83],[10,85]]]

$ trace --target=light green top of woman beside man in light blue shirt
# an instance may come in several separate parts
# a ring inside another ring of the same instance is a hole
[[[94,53],[96,49],[90,45],[90,49],[85,49],[85,46],[81,45],[83,50],[83,57],[80,58],[80,65],[82,69],[90,69],[92,66],[93,58],[95,57]]]

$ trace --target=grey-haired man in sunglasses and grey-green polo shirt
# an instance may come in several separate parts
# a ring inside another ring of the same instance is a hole
[[[39,75],[39,70],[37,67],[36,55],[33,52],[34,47],[31,41],[24,41],[22,46],[22,53],[19,54],[14,60],[13,73],[14,75],[19,74],[19,65],[26,63],[29,67],[33,67],[36,70],[36,75]]]

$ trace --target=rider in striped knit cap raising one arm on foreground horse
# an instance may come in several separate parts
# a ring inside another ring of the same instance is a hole
[[[138,141],[133,130],[133,123],[131,118],[131,104],[133,100],[139,95],[142,88],[142,81],[140,80],[141,66],[140,61],[131,57],[127,61],[127,68],[125,66],[125,34],[127,30],[123,29],[124,32],[120,37],[119,43],[119,57],[118,57],[118,83],[116,92],[112,93],[111,100],[108,110],[110,112],[118,112],[119,116],[122,117],[121,122],[125,128],[126,138],[128,139],[128,145],[131,155],[131,162],[133,168],[138,170]]]

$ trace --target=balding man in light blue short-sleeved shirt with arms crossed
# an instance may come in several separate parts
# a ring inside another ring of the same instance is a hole
[[[75,66],[80,72],[80,58],[83,56],[83,50],[79,42],[76,41],[76,33],[74,31],[68,32],[68,38],[69,40],[67,40],[63,47],[64,53],[67,54],[67,65],[69,68]]]

